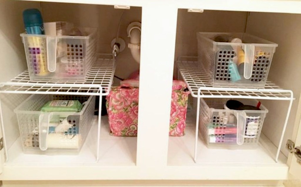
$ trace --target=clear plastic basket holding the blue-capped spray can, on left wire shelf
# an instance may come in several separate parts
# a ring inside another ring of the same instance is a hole
[[[30,80],[79,80],[96,58],[97,29],[77,28],[83,36],[22,33]]]

